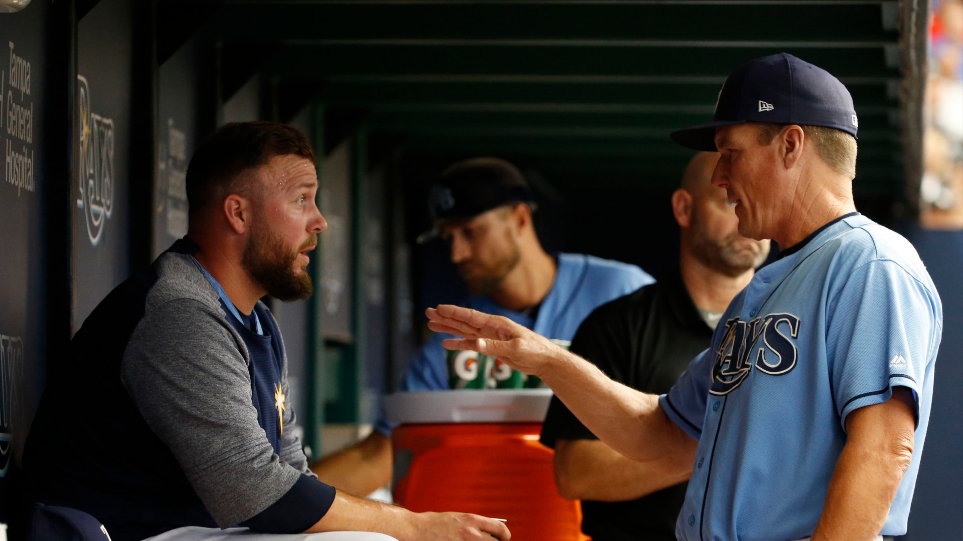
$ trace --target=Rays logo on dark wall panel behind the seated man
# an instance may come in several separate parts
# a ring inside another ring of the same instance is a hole
[[[77,208],[84,211],[91,245],[104,235],[114,210],[114,120],[91,111],[91,87],[77,75]]]

